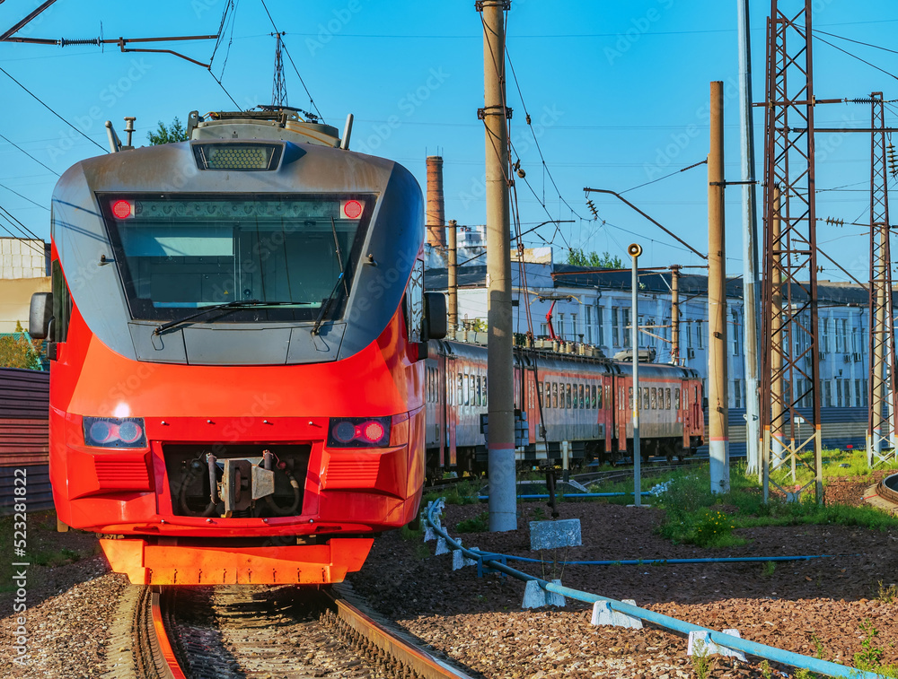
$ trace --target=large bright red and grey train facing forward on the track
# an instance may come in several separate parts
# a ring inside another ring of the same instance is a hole
[[[445,334],[420,188],[287,109],[194,113],[189,136],[54,191],[31,334],[58,518],[120,536],[133,583],[339,581],[418,513]]]

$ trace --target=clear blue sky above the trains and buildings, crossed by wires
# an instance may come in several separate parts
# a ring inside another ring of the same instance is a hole
[[[267,3],[278,29],[286,31],[289,53],[326,121],[342,129],[346,115],[353,113],[352,147],[400,161],[422,187],[425,157],[441,153],[447,218],[462,224],[483,223],[484,138],[476,118],[483,104],[482,38],[472,0]],[[0,4],[0,29],[12,26],[38,4],[39,0],[6,0]],[[225,4],[226,0],[128,4],[58,0],[23,32],[40,38],[93,38],[102,24],[105,38],[212,34],[218,30]],[[791,4],[799,6],[797,0]],[[894,47],[898,27],[894,4],[817,0],[815,6],[815,28]],[[507,47],[548,168],[543,170],[533,136],[524,124],[521,95],[511,79],[512,139],[530,183],[527,187],[518,182],[522,222],[527,228],[548,219],[575,220],[562,225],[559,232],[551,226],[541,228],[539,236],[527,237],[528,245],[550,241],[557,260],[563,260],[568,246],[607,250],[626,258],[627,245],[638,240],[645,248],[641,260],[645,266],[700,264],[698,257],[674,247],[664,233],[613,198],[594,199],[604,224],[585,219],[591,214],[582,189],[623,191],[704,160],[709,82],[732,83],[728,89],[735,95],[736,9],[737,0],[513,0]],[[769,11],[769,2],[752,3],[755,100],[763,98],[764,23]],[[221,76],[242,107],[268,103],[275,45],[269,18],[260,0],[239,0],[232,16],[212,72]],[[818,97],[853,98],[884,91],[886,99],[898,99],[898,83],[890,75],[898,73],[898,55],[821,37],[888,74],[817,40],[814,87]],[[215,41],[198,41],[146,47],[172,48],[206,63],[214,45]],[[121,134],[122,118],[136,116],[136,144],[145,144],[147,130],[158,121],[170,123],[176,116],[184,121],[193,109],[200,113],[233,109],[206,68],[166,54],[121,54],[116,46],[101,51],[6,43],[0,44],[0,65],[103,149],[108,149],[106,119]],[[290,105],[311,109],[288,61],[286,83]],[[4,74],[0,74],[0,87],[4,102],[0,135],[47,166],[0,139],[0,184],[4,186],[0,206],[48,239],[46,208],[56,181],[53,172],[61,173],[101,149]],[[729,179],[740,178],[737,101],[736,96],[726,99]],[[895,111],[898,108],[888,112],[889,124],[898,123]],[[867,126],[869,115],[868,106],[858,105],[821,106],[816,113],[819,126],[851,120]],[[756,109],[755,121],[760,176],[761,109]],[[818,215],[867,221],[869,138],[818,135],[817,145],[818,188],[841,187],[818,195]],[[704,166],[627,194],[701,251],[707,251],[706,196]],[[742,270],[740,200],[740,188],[728,189],[727,268],[731,275]],[[868,245],[862,228],[821,224],[818,242],[858,278],[867,279]],[[823,278],[846,280],[825,260],[821,264]]]

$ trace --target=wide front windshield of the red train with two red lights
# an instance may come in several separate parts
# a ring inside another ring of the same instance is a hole
[[[351,290],[374,196],[98,196],[132,318],[311,320]],[[341,278],[342,274],[342,278]]]

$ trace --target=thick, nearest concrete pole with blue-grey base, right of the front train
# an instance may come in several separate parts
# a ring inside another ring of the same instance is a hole
[[[511,239],[508,206],[505,16],[509,0],[483,0],[483,119],[487,170],[487,466],[489,530],[517,528],[512,356]]]

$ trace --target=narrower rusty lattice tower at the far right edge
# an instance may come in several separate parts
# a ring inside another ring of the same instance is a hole
[[[892,413],[898,413],[898,401],[890,385],[895,374],[895,336],[883,93],[870,94],[870,103],[870,411],[867,464],[873,467],[894,457],[894,426],[890,413],[884,413],[884,409],[887,407]]]

